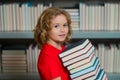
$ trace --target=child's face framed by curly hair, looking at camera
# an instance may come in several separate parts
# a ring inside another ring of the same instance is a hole
[[[66,16],[58,15],[51,19],[51,30],[48,31],[49,42],[63,42],[68,34],[68,24]]]

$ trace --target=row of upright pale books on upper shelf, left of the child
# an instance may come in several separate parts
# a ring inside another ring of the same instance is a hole
[[[52,6],[42,3],[8,3],[0,5],[0,31],[32,31],[41,12]]]

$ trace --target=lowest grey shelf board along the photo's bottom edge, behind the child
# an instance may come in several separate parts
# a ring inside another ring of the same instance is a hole
[[[7,77],[6,77],[7,76]],[[23,73],[23,74],[19,74],[19,73],[0,73],[0,79],[1,80],[18,80],[18,78],[20,80],[40,80],[39,78],[39,74],[38,73]],[[108,79],[109,80],[119,80],[120,79],[120,75],[117,73],[109,73],[108,74]]]

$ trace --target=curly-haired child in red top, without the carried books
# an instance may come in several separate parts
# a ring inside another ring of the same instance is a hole
[[[47,8],[37,22],[34,36],[41,48],[37,65],[41,80],[70,80],[58,56],[71,37],[69,13],[57,7]]]

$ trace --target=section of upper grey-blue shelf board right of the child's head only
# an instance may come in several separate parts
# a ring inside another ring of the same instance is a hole
[[[92,38],[92,39],[118,39],[120,38],[120,32],[80,32],[73,31],[73,38]]]

